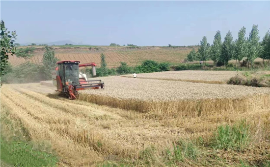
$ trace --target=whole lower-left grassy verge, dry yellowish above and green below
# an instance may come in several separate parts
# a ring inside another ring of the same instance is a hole
[[[51,152],[48,144],[37,145],[31,142],[29,132],[21,121],[12,120],[9,108],[2,105],[0,124],[1,167],[56,167],[58,159],[54,154],[48,153]]]

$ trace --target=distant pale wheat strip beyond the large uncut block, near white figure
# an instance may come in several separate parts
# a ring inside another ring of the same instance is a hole
[[[206,84],[226,84],[227,80],[238,73],[239,72],[237,71],[165,71],[138,74],[137,78]],[[133,78],[133,75],[122,75],[122,77]]]

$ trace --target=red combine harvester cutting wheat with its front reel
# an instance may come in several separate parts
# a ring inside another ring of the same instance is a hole
[[[79,71],[79,67],[92,66],[92,74],[96,76],[96,64],[79,64],[80,61],[60,61],[52,72],[53,84],[57,87],[56,92],[61,92],[69,99],[76,99],[79,90],[104,89],[105,84],[101,80],[88,81],[85,74]]]

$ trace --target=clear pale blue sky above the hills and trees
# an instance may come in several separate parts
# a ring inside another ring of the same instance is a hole
[[[241,27],[270,28],[270,1],[1,1],[1,20],[17,42],[70,40],[95,45],[213,43]]]

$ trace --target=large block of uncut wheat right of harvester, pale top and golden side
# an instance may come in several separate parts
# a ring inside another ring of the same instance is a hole
[[[270,89],[123,77],[101,78],[105,90],[83,90],[79,99],[146,113],[149,118],[198,117],[270,107]]]

